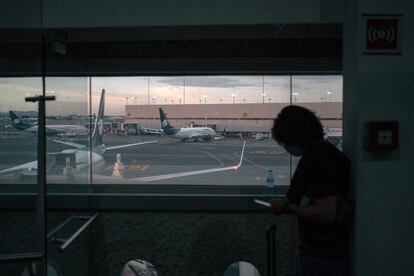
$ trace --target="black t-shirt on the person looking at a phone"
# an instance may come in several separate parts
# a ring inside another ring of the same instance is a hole
[[[287,194],[296,205],[312,205],[315,199],[337,196],[338,208],[349,192],[349,159],[329,142],[310,145],[304,152]],[[349,257],[349,227],[343,223],[310,223],[299,219],[301,254],[323,259]]]

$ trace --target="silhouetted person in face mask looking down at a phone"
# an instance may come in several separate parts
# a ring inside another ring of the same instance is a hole
[[[349,224],[341,215],[349,195],[349,159],[324,140],[316,115],[300,106],[287,106],[274,120],[275,141],[300,157],[286,198],[271,200],[276,215],[298,218],[297,276],[349,275]]]

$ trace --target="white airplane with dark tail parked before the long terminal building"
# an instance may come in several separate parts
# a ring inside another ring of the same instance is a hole
[[[215,134],[215,131],[209,127],[176,128],[168,122],[167,116],[162,108],[160,108],[160,120],[164,133],[172,138],[181,139],[181,142],[185,142],[189,139],[193,139],[194,141],[200,139],[210,140]]]

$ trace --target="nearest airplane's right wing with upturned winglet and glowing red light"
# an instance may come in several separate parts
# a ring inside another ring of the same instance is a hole
[[[153,182],[153,181],[159,181],[159,180],[165,180],[165,179],[171,179],[171,178],[178,178],[178,177],[184,177],[184,176],[190,176],[190,175],[199,175],[199,174],[205,174],[205,173],[237,170],[242,165],[245,146],[246,146],[246,141],[244,141],[244,143],[243,143],[243,148],[242,148],[242,152],[240,154],[239,163],[235,164],[233,166],[222,167],[222,168],[218,167],[218,168],[211,168],[211,169],[204,169],[204,170],[197,170],[197,171],[180,172],[180,173],[161,174],[161,175],[154,175],[154,176],[144,176],[144,177],[129,178],[129,179],[122,179],[122,183],[131,183],[132,184],[132,183],[142,183],[142,182]],[[113,182],[113,180],[114,180],[111,177],[100,176],[100,175],[94,175],[93,178],[95,179],[95,181],[110,181],[110,182]]]

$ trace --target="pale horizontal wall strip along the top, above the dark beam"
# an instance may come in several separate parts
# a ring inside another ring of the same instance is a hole
[[[45,27],[340,22],[343,0],[44,0]],[[0,27],[39,27],[40,1],[0,3]],[[12,15],[12,16],[11,16]]]

